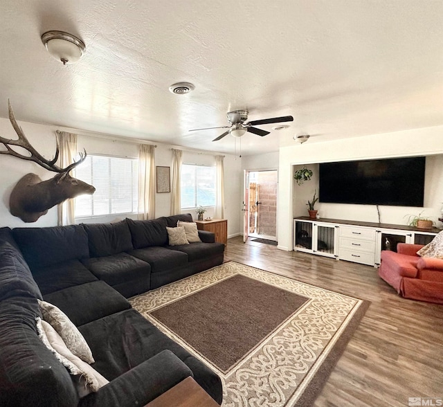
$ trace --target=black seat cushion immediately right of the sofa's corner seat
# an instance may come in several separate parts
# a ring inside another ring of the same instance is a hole
[[[111,286],[139,278],[150,279],[150,265],[127,253],[82,261],[94,275]]]

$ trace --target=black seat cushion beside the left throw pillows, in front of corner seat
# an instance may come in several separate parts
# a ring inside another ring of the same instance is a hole
[[[44,300],[62,309],[77,326],[131,307],[125,297],[100,280],[55,291]]]

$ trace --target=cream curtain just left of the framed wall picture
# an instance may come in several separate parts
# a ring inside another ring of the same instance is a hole
[[[141,144],[138,150],[138,219],[155,218],[155,146]]]

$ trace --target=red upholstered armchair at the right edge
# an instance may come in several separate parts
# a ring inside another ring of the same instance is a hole
[[[443,260],[419,257],[421,244],[397,244],[397,253],[381,251],[379,276],[404,298],[443,304]]]

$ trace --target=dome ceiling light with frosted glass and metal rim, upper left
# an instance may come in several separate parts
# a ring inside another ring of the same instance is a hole
[[[47,31],[42,35],[42,42],[48,53],[62,64],[74,64],[86,51],[86,46],[80,38],[64,31]]]

